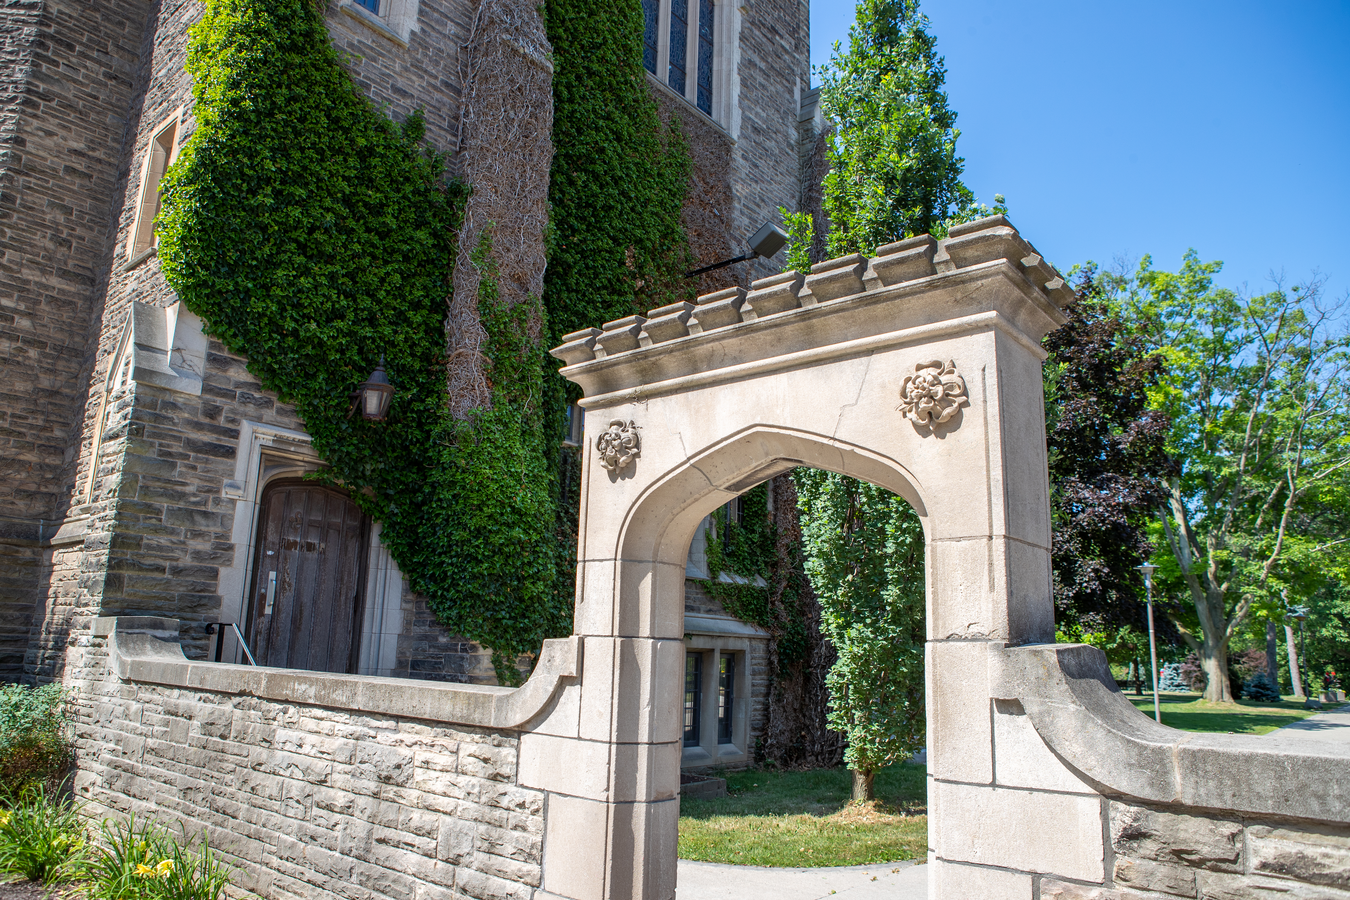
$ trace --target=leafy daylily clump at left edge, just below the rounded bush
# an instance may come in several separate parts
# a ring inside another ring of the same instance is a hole
[[[86,851],[84,803],[43,781],[8,799],[0,811],[0,872],[49,884],[76,874]]]

